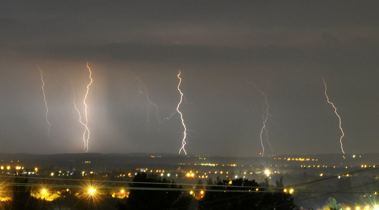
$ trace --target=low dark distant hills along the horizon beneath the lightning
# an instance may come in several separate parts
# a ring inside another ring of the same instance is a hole
[[[322,155],[278,155],[269,157],[216,157],[200,155],[178,155],[167,153],[127,153],[127,154],[10,154],[0,153],[2,165],[21,165],[34,169],[34,167],[57,168],[97,168],[124,169],[130,167],[151,167],[152,165],[329,165],[353,167],[361,165],[378,165],[379,153],[369,154],[322,154]]]

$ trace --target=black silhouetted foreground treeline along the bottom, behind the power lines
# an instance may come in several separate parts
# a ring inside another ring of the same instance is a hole
[[[193,189],[156,174],[138,173],[129,186],[129,196],[123,199],[110,194],[78,197],[64,194],[47,201],[31,195],[27,177],[15,177],[12,201],[2,202],[2,209],[297,209],[293,197],[283,192],[282,179],[277,190],[269,190],[268,181],[235,179],[199,181]]]

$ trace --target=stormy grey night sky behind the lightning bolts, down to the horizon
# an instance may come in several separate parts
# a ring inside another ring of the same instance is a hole
[[[378,1],[2,1],[0,152],[377,152]],[[51,123],[45,119],[40,71]],[[142,82],[139,82],[137,76]],[[255,87],[254,86],[257,87]],[[185,100],[184,100],[185,99]],[[183,154],[183,153],[182,153]]]

